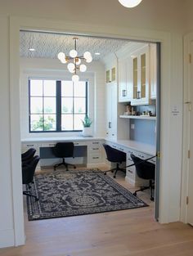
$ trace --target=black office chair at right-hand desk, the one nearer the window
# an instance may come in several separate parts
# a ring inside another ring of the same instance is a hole
[[[115,168],[105,171],[104,174],[106,174],[107,172],[112,172],[114,173],[114,178],[115,178],[118,171],[122,171],[123,173],[126,173],[125,168],[119,167],[119,164],[122,164],[123,162],[126,161],[126,154],[123,151],[115,150],[113,147],[107,144],[103,144],[103,146],[105,148],[106,159],[112,163],[116,163]]]

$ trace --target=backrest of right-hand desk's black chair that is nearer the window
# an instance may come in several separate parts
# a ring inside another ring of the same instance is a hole
[[[114,163],[125,162],[126,154],[124,152],[116,150],[107,144],[103,144],[103,146],[105,148],[107,160],[109,160],[110,162],[114,162]]]

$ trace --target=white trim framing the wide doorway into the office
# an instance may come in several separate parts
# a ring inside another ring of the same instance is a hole
[[[10,91],[11,91],[11,172],[12,172],[12,192],[13,192],[13,218],[15,225],[16,245],[25,244],[24,218],[22,204],[22,184],[20,160],[15,152],[20,148],[20,29],[39,30],[61,33],[86,34],[101,37],[128,38],[136,41],[148,41],[161,43],[161,119],[169,119],[170,106],[169,87],[171,86],[171,34],[154,30],[128,29],[110,26],[96,26],[65,22],[64,20],[45,20],[27,17],[11,16],[10,18]],[[163,119],[163,120],[164,120]],[[161,123],[161,159],[159,175],[159,222],[171,222],[179,219],[180,209],[173,213],[171,217],[169,202],[169,186],[173,178],[173,173],[169,173],[169,124],[167,121]],[[169,173],[169,174],[168,174]],[[172,195],[171,195],[172,196]],[[16,204],[16,201],[20,204]],[[173,212],[176,209],[173,210]]]

